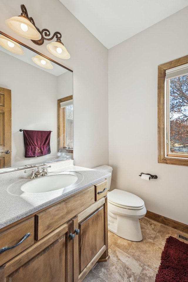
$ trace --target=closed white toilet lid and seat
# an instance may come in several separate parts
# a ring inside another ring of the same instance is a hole
[[[108,192],[107,198],[109,202],[122,208],[142,209],[144,207],[144,201],[141,198],[119,189]]]

